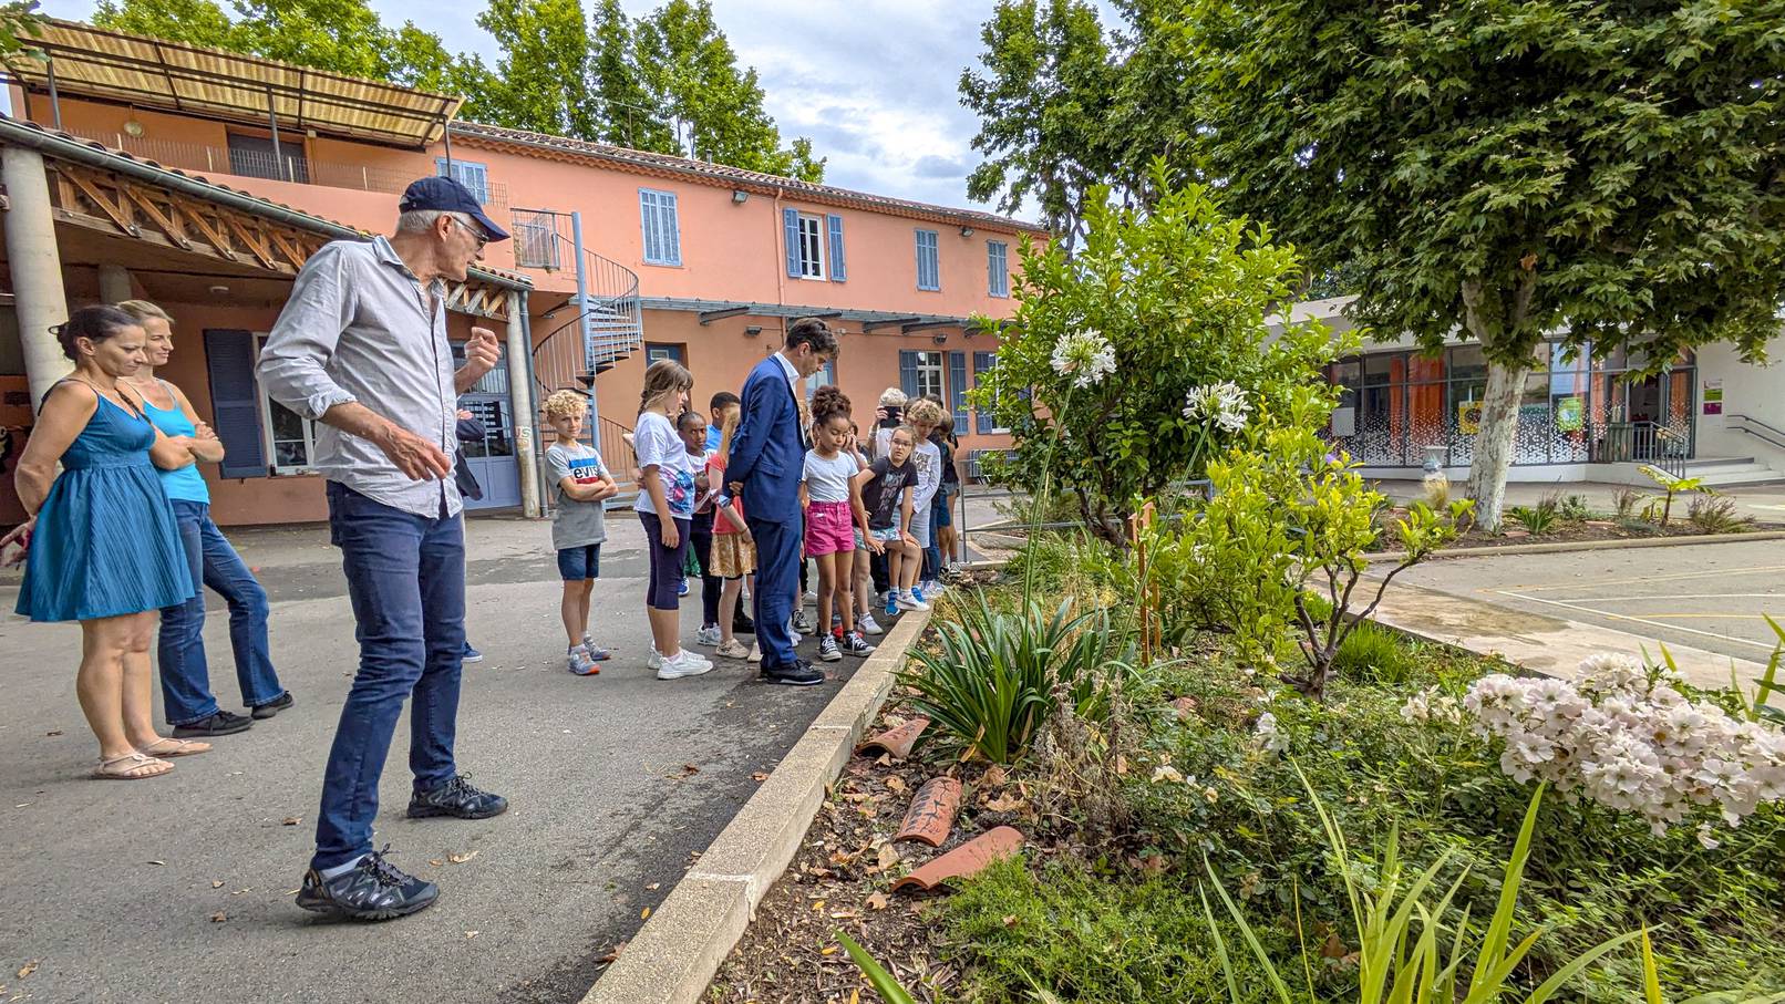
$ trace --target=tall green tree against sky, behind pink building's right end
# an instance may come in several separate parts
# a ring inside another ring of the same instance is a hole
[[[980,116],[973,148],[987,159],[967,196],[1017,212],[1041,205],[1067,246],[1083,235],[1085,200],[1116,178],[1108,119],[1117,66],[1085,0],[1000,0],[980,32],[984,73],[960,73],[960,103]]]

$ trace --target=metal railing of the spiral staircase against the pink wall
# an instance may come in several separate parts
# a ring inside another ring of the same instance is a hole
[[[564,235],[569,214],[514,210],[516,264],[557,271],[575,267],[577,243]],[[544,398],[555,391],[589,391],[594,378],[644,346],[639,275],[584,248],[585,296],[573,296],[571,317],[534,346],[534,383]],[[587,321],[587,337],[584,323]]]

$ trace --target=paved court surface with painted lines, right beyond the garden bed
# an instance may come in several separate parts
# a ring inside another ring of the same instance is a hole
[[[1785,626],[1785,540],[1440,558],[1396,581],[1760,663],[1765,615]]]

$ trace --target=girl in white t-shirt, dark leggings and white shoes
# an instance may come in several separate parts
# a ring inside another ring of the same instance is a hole
[[[675,417],[687,407],[694,378],[673,358],[659,358],[644,371],[639,421],[632,449],[639,457],[639,498],[632,508],[644,524],[652,558],[644,615],[652,622],[652,660],[657,679],[700,676],[712,662],[682,647],[682,562],[694,521],[694,462],[677,435]]]

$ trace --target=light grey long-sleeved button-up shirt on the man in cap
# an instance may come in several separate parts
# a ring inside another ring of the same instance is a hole
[[[432,309],[428,300],[432,298]],[[421,282],[386,237],[332,241],[298,271],[261,350],[261,387],[307,419],[357,401],[439,446],[459,449],[446,284]],[[452,476],[412,481],[371,440],[318,423],[311,467],[403,512],[461,512]]]

